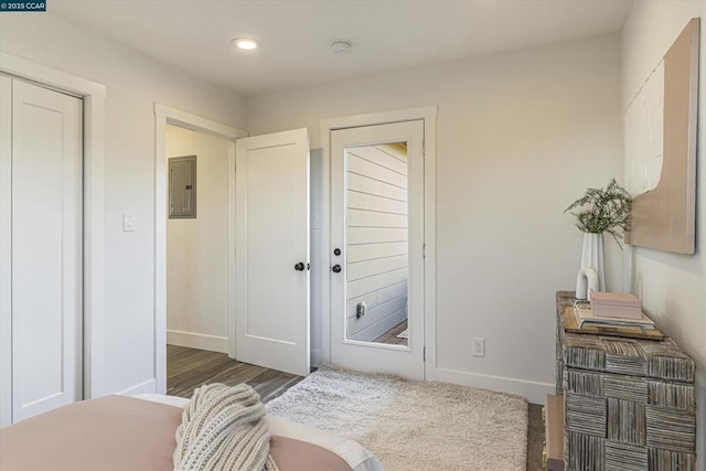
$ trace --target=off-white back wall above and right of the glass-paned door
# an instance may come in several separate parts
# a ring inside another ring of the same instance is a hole
[[[619,74],[619,38],[605,36],[255,97],[247,128],[308,126],[317,148],[322,118],[438,105],[428,372],[538,403],[554,387],[555,292],[574,289],[579,268],[581,234],[563,211],[621,173]],[[610,240],[608,257],[614,286]],[[485,338],[484,358],[472,336]]]

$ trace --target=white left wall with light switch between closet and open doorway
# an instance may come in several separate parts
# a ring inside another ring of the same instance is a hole
[[[51,13],[0,15],[0,49],[106,85],[105,389],[152,390],[154,101],[240,128],[244,101]]]

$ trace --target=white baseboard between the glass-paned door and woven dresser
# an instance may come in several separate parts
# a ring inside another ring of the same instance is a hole
[[[547,394],[554,394],[556,390],[554,383],[539,383],[440,367],[428,368],[427,381],[440,381],[499,393],[516,394],[532,404],[544,404]]]

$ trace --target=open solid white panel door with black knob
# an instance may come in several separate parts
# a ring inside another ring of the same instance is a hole
[[[309,374],[309,136],[236,141],[236,358]],[[299,265],[301,264],[301,265]]]

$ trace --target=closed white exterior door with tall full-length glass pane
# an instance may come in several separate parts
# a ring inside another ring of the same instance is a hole
[[[424,217],[422,120],[331,132],[332,363],[424,379]]]

